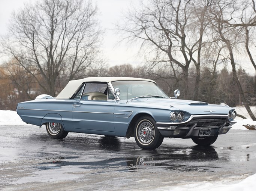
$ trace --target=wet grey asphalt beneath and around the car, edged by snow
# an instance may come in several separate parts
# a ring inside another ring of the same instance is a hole
[[[0,190],[155,190],[198,181],[240,181],[256,173],[256,131],[230,130],[211,147],[165,138],[142,150],[133,138],[0,126]]]

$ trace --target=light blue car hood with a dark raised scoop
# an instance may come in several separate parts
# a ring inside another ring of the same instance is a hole
[[[181,110],[192,115],[228,114],[233,109],[227,105],[208,104],[200,101],[178,100],[165,98],[138,98],[129,102],[133,106]],[[150,106],[149,106],[150,105]]]

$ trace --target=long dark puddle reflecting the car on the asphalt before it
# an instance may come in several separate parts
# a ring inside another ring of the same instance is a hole
[[[127,170],[139,170],[143,166],[158,166],[169,170],[179,170],[179,171],[192,171],[192,170],[207,170],[209,167],[205,166],[191,166],[187,163],[204,162],[211,160],[218,160],[219,156],[215,151],[214,147],[189,147],[189,148],[179,148],[179,149],[168,149],[162,151],[147,151],[140,150],[135,151],[135,153],[129,153],[129,155],[136,156],[137,154],[143,154],[145,156],[138,157],[115,157],[111,159],[101,160],[101,161],[82,161],[79,160],[78,156],[73,157],[52,157],[46,158],[46,162],[36,164],[40,169],[54,169],[60,168],[61,166],[78,166],[86,169],[110,169],[119,168],[115,170],[127,171]],[[118,153],[117,153],[118,154]],[[127,154],[126,154],[127,155]],[[106,157],[111,157],[106,155]],[[76,161],[70,161],[69,159],[78,159]],[[183,165],[185,164],[185,165]]]

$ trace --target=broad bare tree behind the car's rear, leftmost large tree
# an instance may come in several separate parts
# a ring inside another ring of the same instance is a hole
[[[15,59],[43,91],[55,96],[58,80],[76,79],[96,62],[100,30],[97,7],[84,0],[43,0],[13,13],[3,52]]]

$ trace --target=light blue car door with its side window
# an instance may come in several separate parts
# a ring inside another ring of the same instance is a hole
[[[115,101],[109,100],[107,83],[87,82],[75,96],[72,109],[73,128],[83,132],[104,134],[115,132]]]

